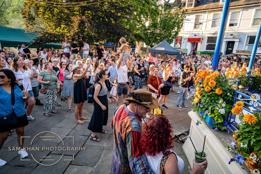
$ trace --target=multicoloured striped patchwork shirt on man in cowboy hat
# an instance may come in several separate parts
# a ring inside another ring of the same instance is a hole
[[[145,154],[139,149],[141,119],[121,105],[114,112],[111,128],[114,132],[111,173],[153,173],[146,165]]]

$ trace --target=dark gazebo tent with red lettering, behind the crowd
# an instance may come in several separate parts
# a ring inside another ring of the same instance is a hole
[[[157,57],[164,60],[175,58],[180,61],[182,55],[182,51],[171,47],[171,45],[165,39],[155,47],[148,48],[148,53],[151,53],[152,57]]]

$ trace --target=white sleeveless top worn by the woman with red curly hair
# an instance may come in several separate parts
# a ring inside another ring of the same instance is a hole
[[[170,150],[170,151],[174,152],[173,150]],[[178,161],[179,172],[182,173],[184,170],[184,161],[176,153],[175,153],[175,155],[176,155],[177,161]],[[155,156],[149,156],[147,153],[145,153],[145,156],[146,156],[147,164],[149,164],[151,170],[155,174],[159,174],[159,169],[161,166],[161,160],[163,157],[163,153],[160,152],[160,153],[156,154]]]

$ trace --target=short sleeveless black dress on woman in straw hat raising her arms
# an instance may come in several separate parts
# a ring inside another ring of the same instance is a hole
[[[73,86],[73,103],[84,103],[88,100],[84,79],[77,80]]]

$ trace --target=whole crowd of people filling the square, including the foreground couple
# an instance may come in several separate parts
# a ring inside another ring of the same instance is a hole
[[[5,106],[0,107],[0,113],[1,116],[15,114],[19,120],[18,124],[0,128],[0,149],[15,129],[21,148],[19,154],[25,158],[28,154],[23,149],[24,139],[20,143],[19,137],[25,136],[24,126],[28,125],[28,120],[33,121],[37,117],[31,115],[34,105],[44,105],[43,114],[50,117],[57,113],[59,95],[61,102],[67,102],[68,112],[72,111],[74,99],[75,123],[86,123],[82,121],[87,120],[82,115],[82,108],[90,97],[89,91],[93,90],[94,109],[88,125],[91,140],[100,141],[97,132],[107,133],[103,126],[108,121],[108,106],[116,103],[111,122],[115,137],[112,173],[160,173],[163,170],[165,173],[181,173],[184,162],[172,150],[173,134],[168,118],[151,115],[144,127],[141,119],[150,114],[151,109],[169,109],[165,104],[169,93],[176,92],[174,85],[179,87],[176,106],[186,108],[185,98],[193,85],[194,75],[199,70],[211,68],[212,57],[186,55],[181,60],[163,60],[152,57],[150,53],[139,55],[131,52],[125,38],[121,38],[120,43],[117,52],[107,52],[102,44],[94,49],[82,40],[83,47],[79,47],[78,40],[70,43],[66,38],[61,50],[38,46],[34,59],[25,44],[19,45],[18,56],[12,50],[0,50],[0,98],[5,98],[5,103],[0,102]],[[228,67],[233,66],[240,69],[247,63],[241,66],[222,57],[218,71],[224,74]],[[147,89],[144,89],[144,84],[147,84]],[[38,99],[39,92],[44,94],[44,104]],[[121,98],[124,105],[120,105]],[[12,106],[15,106],[14,110]],[[125,158],[129,161],[128,165],[121,163]],[[162,158],[167,158],[163,166],[160,165]],[[0,159],[0,166],[5,163]],[[206,166],[207,161],[200,164],[193,161],[192,173],[201,173]]]

